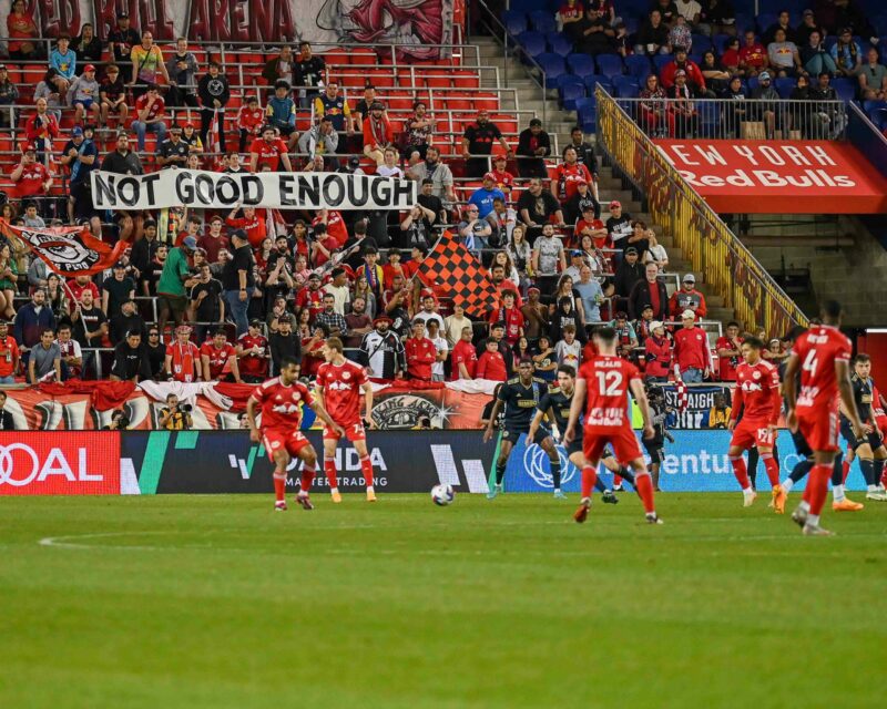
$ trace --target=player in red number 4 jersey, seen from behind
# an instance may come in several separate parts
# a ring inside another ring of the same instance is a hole
[[[840,333],[840,305],[823,305],[823,325],[810,328],[795,343],[785,369],[786,423],[801,431],[813,449],[815,465],[804,491],[804,500],[792,513],[804,534],[829,535],[819,526],[828,492],[828,479],[838,452],[838,394],[857,436],[864,435],[850,386],[850,341]],[[801,392],[795,374],[801,370]]]

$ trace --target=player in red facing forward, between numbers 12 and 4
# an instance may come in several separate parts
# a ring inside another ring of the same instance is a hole
[[[727,431],[733,431],[727,456],[733,465],[733,474],[742,487],[745,506],[750,507],[757,497],[748,480],[744,451],[757,448],[769,484],[773,486],[773,506],[776,514],[785,512],[785,493],[779,486],[779,462],[773,458],[773,443],[776,440],[776,423],[779,420],[782,400],[779,399],[779,371],[761,357],[764,343],[750,337],[741,346],[743,360],[736,368],[736,387],[733,389],[733,407]],[[742,421],[736,419],[742,411]]]

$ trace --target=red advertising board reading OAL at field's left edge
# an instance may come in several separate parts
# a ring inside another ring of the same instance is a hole
[[[119,495],[115,431],[0,433],[0,495]]]

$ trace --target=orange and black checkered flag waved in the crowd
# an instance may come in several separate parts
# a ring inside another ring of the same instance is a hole
[[[480,261],[449,232],[443,232],[416,275],[435,296],[450,298],[477,318],[486,317],[499,301]]]

